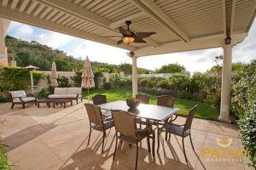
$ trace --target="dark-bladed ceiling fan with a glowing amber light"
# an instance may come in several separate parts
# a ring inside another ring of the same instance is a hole
[[[150,37],[156,34],[156,32],[154,31],[134,33],[129,28],[129,26],[131,25],[131,20],[126,20],[125,24],[127,25],[127,30],[125,30],[125,28],[123,28],[122,26],[119,26],[119,32],[122,34],[122,39],[117,42],[118,44],[131,42],[146,43],[143,38]]]

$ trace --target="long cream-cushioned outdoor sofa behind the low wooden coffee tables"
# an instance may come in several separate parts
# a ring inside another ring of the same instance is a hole
[[[49,99],[75,99],[77,104],[82,100],[82,88],[55,88],[55,94],[50,94]]]

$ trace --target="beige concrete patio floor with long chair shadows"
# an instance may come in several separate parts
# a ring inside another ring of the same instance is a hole
[[[0,125],[0,132],[6,137],[3,142],[9,145],[8,157],[9,161],[15,164],[14,169],[134,169],[135,146],[119,144],[116,160],[113,161],[114,127],[107,131],[103,154],[102,133],[92,131],[90,144],[87,146],[89,121],[84,103],[67,105],[67,109],[61,105],[55,109],[47,108],[43,104],[40,108],[27,105],[25,110],[17,105],[11,110],[10,105],[0,105],[0,118],[6,119],[6,122]],[[184,118],[177,120],[183,121]],[[164,133],[162,137],[160,152],[155,157],[148,153],[147,140],[143,140],[139,148],[137,169],[250,169],[247,167],[247,158],[232,159],[227,153],[224,160],[221,156],[220,159],[210,157],[212,152],[205,157],[201,154],[202,148],[219,149],[216,139],[223,137],[232,139],[230,148],[235,150],[241,147],[236,125],[195,119],[192,125],[192,140],[200,160],[192,150],[189,138],[186,138],[188,164],[183,156],[181,138],[172,135],[171,142],[166,142]]]

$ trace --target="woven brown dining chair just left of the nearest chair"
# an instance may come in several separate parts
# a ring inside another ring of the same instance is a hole
[[[84,104],[84,105],[89,117],[90,134],[91,134],[91,128],[103,133],[103,139],[102,139],[102,153],[103,153],[104,139],[106,138],[106,130],[108,130],[108,128],[113,127],[113,120],[108,120],[108,121],[103,120],[102,110],[100,107],[93,104]],[[90,143],[90,134],[89,134],[87,145],[89,145]]]

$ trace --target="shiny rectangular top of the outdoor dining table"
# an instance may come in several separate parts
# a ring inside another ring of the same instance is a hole
[[[102,110],[122,110],[128,111],[131,114],[136,114],[137,117],[144,118],[147,120],[163,122],[166,121],[169,117],[177,113],[180,109],[165,107],[160,105],[146,105],[140,104],[137,106],[136,110],[131,110],[131,108],[126,105],[126,102],[123,100],[113,101],[105,104],[98,105]]]

